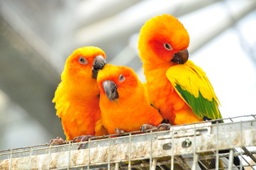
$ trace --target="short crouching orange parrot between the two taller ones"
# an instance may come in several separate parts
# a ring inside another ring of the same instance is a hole
[[[109,134],[147,130],[161,124],[162,116],[150,106],[145,86],[133,69],[106,64],[99,70],[97,82],[101,120]]]

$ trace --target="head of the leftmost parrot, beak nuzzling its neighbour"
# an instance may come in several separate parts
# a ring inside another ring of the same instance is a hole
[[[76,86],[96,84],[99,69],[106,64],[106,55],[99,47],[80,47],[67,58],[62,79]],[[94,82],[94,83],[92,83]]]

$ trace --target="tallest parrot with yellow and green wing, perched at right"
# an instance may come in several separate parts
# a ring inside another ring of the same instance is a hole
[[[138,55],[150,102],[171,125],[222,118],[213,86],[201,67],[189,60],[188,47],[189,33],[172,15],[151,18],[140,29]],[[234,164],[240,164],[237,161]]]

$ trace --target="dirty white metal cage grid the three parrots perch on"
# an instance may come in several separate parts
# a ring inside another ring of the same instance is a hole
[[[82,143],[2,150],[0,169],[200,169],[199,162],[205,166],[212,159],[216,166],[223,163],[219,169],[256,169],[256,115],[223,120],[94,137]],[[77,149],[80,144],[82,149]],[[223,149],[229,152],[218,153]],[[240,158],[240,166],[233,165],[234,156]]]

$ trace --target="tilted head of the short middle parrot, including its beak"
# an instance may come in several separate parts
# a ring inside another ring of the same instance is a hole
[[[138,77],[129,67],[106,64],[104,69],[99,71],[97,82],[101,96],[106,95],[112,102],[133,94],[138,86]]]

